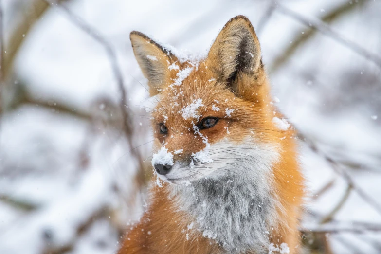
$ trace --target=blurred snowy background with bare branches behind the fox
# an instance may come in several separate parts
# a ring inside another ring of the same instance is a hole
[[[150,156],[152,137],[129,32],[206,54],[238,14],[252,21],[273,95],[301,133],[304,252],[381,253],[380,0],[60,2],[116,52],[134,132],[123,130],[104,46],[61,7],[2,0],[1,254],[115,252],[152,172],[131,152]],[[319,20],[333,36],[311,28]]]

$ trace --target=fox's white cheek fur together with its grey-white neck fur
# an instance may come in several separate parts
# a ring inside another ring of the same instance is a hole
[[[199,165],[204,168],[197,163],[193,168],[177,168],[179,176],[184,174],[181,171],[197,172],[198,181],[169,185],[175,208],[194,219],[192,227],[183,230],[184,237],[189,239],[199,231],[228,253],[266,252],[269,232],[279,224],[276,209],[281,207],[272,176],[278,148],[255,145],[248,138],[239,145],[212,144],[208,156],[213,162]]]

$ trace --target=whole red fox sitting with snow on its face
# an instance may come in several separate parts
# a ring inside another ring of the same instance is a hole
[[[157,99],[158,179],[118,253],[298,253],[304,179],[295,133],[272,102],[249,19],[230,19],[200,61],[140,32],[130,39]]]

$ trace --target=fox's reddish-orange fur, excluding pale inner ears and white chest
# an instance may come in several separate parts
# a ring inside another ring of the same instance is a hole
[[[247,18],[242,16],[229,21],[241,22],[242,25],[251,29],[255,36],[254,29]],[[229,28],[228,23],[221,31],[223,36],[224,30]],[[221,36],[221,34],[219,36]],[[135,37],[134,37],[135,36]],[[219,37],[218,37],[219,38]],[[216,41],[218,41],[218,38]],[[255,36],[256,38],[256,36]],[[144,41],[149,38],[133,32],[131,40],[142,39]],[[152,45],[152,44],[151,44]],[[155,47],[148,49],[147,54],[153,54],[162,57],[159,61],[169,61],[173,63],[177,60],[176,56],[166,55]],[[257,45],[259,47],[259,43]],[[278,130],[272,123],[272,118],[277,116],[282,118],[280,113],[276,112],[271,101],[270,86],[267,81],[267,76],[263,66],[257,67],[258,70],[254,74],[240,73],[237,76],[233,86],[236,92],[232,93],[226,89],[226,84],[218,79],[218,68],[220,63],[213,56],[213,46],[205,61],[200,62],[197,70],[193,71],[182,82],[183,103],[179,106],[173,106],[173,91],[168,89],[168,85],[176,78],[176,71],[171,70],[163,76],[162,84],[154,84],[150,80],[151,92],[157,93],[157,88],[162,88],[162,97],[158,108],[163,107],[168,112],[168,120],[166,126],[171,127],[173,138],[166,138],[166,148],[168,150],[183,149],[181,155],[174,155],[174,160],[180,159],[180,156],[190,156],[194,152],[198,152],[205,148],[202,139],[195,137],[193,131],[184,131],[184,127],[192,128],[191,119],[184,120],[181,114],[177,113],[181,107],[191,103],[194,98],[202,98],[205,105],[200,108],[201,112],[205,112],[205,116],[216,116],[220,120],[217,125],[210,129],[204,129],[203,135],[208,137],[208,142],[211,144],[221,141],[226,135],[226,128],[230,130],[229,140],[239,144],[251,134],[251,129],[260,130],[255,134],[255,139],[268,144],[275,144],[279,147],[279,161],[272,165],[272,174],[275,190],[272,195],[277,196],[277,199],[282,204],[283,208],[279,209],[278,217],[279,224],[274,225],[274,230],[270,231],[270,240],[274,244],[285,242],[290,247],[290,253],[298,253],[298,245],[300,236],[298,232],[298,219],[301,214],[301,204],[304,196],[303,177],[300,173],[298,164],[298,154],[295,142],[295,133],[292,128],[286,131]],[[136,53],[135,53],[136,54]],[[139,61],[139,60],[138,60]],[[141,63],[140,63],[141,64]],[[190,66],[189,63],[183,63],[180,67]],[[146,75],[146,73],[145,73]],[[147,75],[146,75],[147,76]],[[215,77],[216,81],[210,81],[211,77]],[[228,99],[225,102],[225,99]],[[218,107],[232,107],[237,109],[232,114],[231,118],[225,118],[222,111],[211,110],[211,105],[214,100],[220,103]],[[254,104],[253,104],[254,102]],[[154,114],[153,128],[157,129],[158,123],[163,121],[163,116]],[[183,133],[180,135],[180,133]],[[155,134],[155,146],[161,147],[163,135]],[[167,197],[168,183],[163,184],[163,188],[159,188],[152,184],[150,189],[151,201],[148,211],[143,215],[140,222],[132,227],[127,233],[122,247],[118,254],[209,254],[209,253],[224,253],[222,247],[217,243],[210,241],[201,234],[192,237],[193,240],[186,241],[182,230],[190,223],[188,215],[184,212],[178,212],[176,204]],[[248,253],[255,253],[251,250]]]

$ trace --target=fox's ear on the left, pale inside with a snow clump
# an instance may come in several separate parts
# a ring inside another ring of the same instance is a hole
[[[177,58],[169,50],[140,32],[132,31],[129,38],[140,69],[148,79],[150,92],[155,95],[159,93],[162,85],[170,83],[168,67]]]

